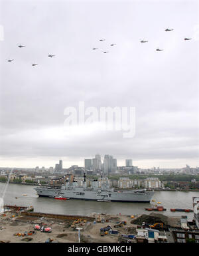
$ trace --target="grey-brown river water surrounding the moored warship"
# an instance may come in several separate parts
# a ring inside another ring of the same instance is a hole
[[[5,184],[0,183],[0,192]],[[145,211],[145,207],[151,207],[151,203],[121,203],[121,202],[98,202],[84,200],[56,200],[48,197],[38,197],[34,186],[9,184],[5,193],[4,203],[10,205],[33,205],[34,211],[44,213],[59,213],[66,215],[90,215],[91,213],[110,213],[123,215],[137,215],[141,213],[149,214],[151,211]],[[192,197],[198,196],[199,192],[155,192],[153,199],[166,208],[161,211],[164,215],[181,216],[187,215],[191,221],[193,213],[171,212],[170,208],[188,208],[193,209]],[[15,197],[18,197],[17,199]],[[159,213],[159,211],[154,211]]]

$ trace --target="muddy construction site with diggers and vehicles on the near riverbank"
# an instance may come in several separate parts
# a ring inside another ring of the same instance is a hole
[[[166,238],[168,227],[180,227],[179,217],[161,213],[80,216],[38,213],[33,207],[17,205],[4,207],[0,215],[1,243],[139,243],[139,231],[144,228],[159,231],[159,241],[172,242]]]

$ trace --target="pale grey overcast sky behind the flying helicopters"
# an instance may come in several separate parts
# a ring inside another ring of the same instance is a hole
[[[0,3],[0,166],[84,166],[97,153],[139,168],[199,166],[198,1]],[[64,130],[64,109],[80,101],[135,107],[135,136]]]

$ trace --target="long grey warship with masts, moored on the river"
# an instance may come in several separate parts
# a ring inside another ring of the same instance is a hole
[[[66,181],[60,188],[39,186],[34,188],[39,196],[44,197],[65,197],[67,199],[82,199],[94,201],[120,201],[120,202],[141,202],[149,203],[153,197],[153,191],[147,190],[122,190],[118,191],[110,188],[107,180],[101,182],[92,181],[92,186],[86,186],[86,176],[84,175],[83,186],[78,186],[78,182]]]

